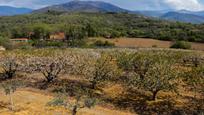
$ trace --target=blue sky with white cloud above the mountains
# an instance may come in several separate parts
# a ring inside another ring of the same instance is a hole
[[[0,0],[0,5],[39,9],[71,0]],[[90,0],[89,0],[90,1]],[[204,0],[95,0],[109,2],[129,10],[204,10]]]

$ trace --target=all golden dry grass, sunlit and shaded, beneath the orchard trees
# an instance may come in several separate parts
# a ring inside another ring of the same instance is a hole
[[[34,74],[27,76],[30,84],[35,84],[37,81],[42,81],[42,76],[40,74]],[[32,79],[36,78],[36,79]],[[63,79],[62,79],[63,78]],[[66,79],[65,79],[66,78]],[[21,78],[21,80],[25,78]],[[20,79],[19,79],[20,80]],[[63,81],[80,82],[83,81],[79,78],[69,78],[68,76],[61,76],[59,83]],[[56,81],[57,82],[57,81]],[[59,83],[54,83],[59,85]],[[71,82],[70,82],[71,83]],[[69,83],[69,84],[70,84]],[[71,84],[70,84],[71,85]],[[182,85],[182,84],[181,84]],[[51,87],[50,86],[50,87]],[[31,86],[32,87],[32,86]],[[98,104],[92,109],[84,108],[78,112],[78,115],[133,115],[142,114],[146,111],[145,115],[155,114],[157,111],[165,113],[165,111],[174,111],[175,109],[186,110],[185,105],[189,104],[189,99],[194,98],[194,93],[191,90],[185,90],[182,86],[179,86],[179,94],[171,92],[160,92],[158,94],[158,100],[156,102],[145,101],[151,96],[148,92],[144,91],[128,91],[122,86],[122,84],[112,84],[107,83],[103,88],[103,94],[99,96],[104,102]],[[201,95],[198,95],[199,97]],[[53,93],[51,90],[39,90],[38,88],[23,88],[18,89],[13,95],[15,102],[16,112],[9,111],[9,98],[0,90],[0,115],[69,115],[70,111],[65,110],[60,107],[47,107],[45,106],[47,102],[53,99]],[[165,100],[167,97],[171,97],[174,100],[171,104],[174,106],[169,106],[168,102]],[[167,106],[168,105],[168,106]],[[194,106],[194,105],[193,105]],[[172,107],[172,108],[170,108]],[[193,108],[192,106],[190,106]],[[141,109],[143,108],[143,109]],[[155,111],[156,110],[156,111]],[[132,112],[130,112],[132,111]]]

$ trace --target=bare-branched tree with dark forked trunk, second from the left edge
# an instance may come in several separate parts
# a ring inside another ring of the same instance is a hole
[[[47,82],[52,82],[69,66],[68,61],[69,58],[60,54],[47,57],[29,56],[24,59],[21,67],[22,71],[28,73],[40,72]]]

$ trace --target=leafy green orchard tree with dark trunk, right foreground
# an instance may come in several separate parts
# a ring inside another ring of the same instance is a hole
[[[152,93],[152,100],[156,100],[160,91],[176,91],[177,77],[173,64],[167,60],[159,59],[150,65],[143,74],[136,73],[129,78],[129,86],[132,88],[144,89]]]

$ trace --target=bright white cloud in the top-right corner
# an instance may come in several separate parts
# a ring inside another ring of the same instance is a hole
[[[199,2],[199,0],[165,0],[166,4],[169,5],[169,7],[181,10],[193,10],[193,11],[199,11],[204,10],[204,5]]]

